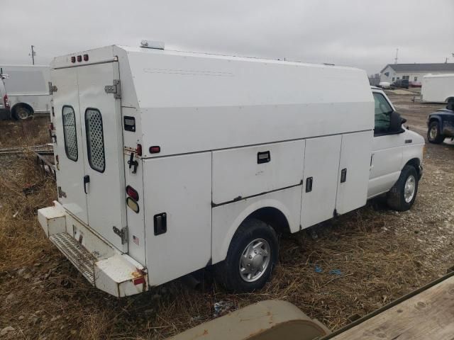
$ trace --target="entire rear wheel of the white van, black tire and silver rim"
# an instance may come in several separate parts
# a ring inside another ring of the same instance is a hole
[[[216,277],[227,290],[258,290],[270,278],[278,252],[277,235],[270,225],[245,220],[233,236],[226,259],[216,266]]]

